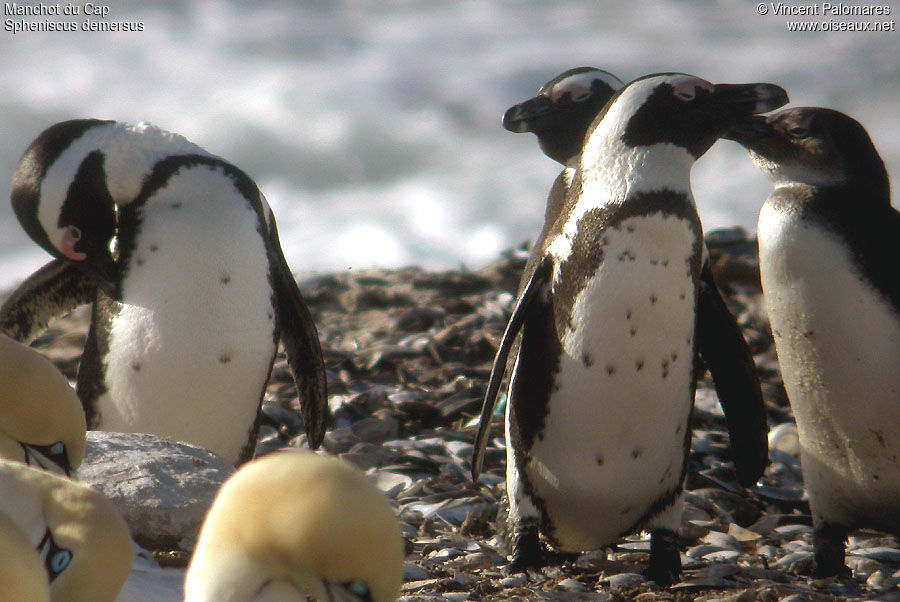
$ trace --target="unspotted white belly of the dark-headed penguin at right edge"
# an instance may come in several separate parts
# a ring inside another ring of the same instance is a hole
[[[835,235],[768,204],[759,233],[813,514],[900,532],[900,316]]]

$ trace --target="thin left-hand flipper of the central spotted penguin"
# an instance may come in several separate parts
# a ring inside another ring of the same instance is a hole
[[[552,271],[553,261],[549,257],[544,257],[538,263],[528,279],[528,283],[522,289],[522,293],[516,301],[516,306],[513,308],[512,315],[509,317],[509,322],[506,324],[506,330],[503,331],[500,348],[497,349],[494,365],[491,366],[491,377],[488,380],[487,392],[484,394],[484,404],[481,406],[478,434],[475,436],[475,449],[472,452],[472,479],[474,480],[478,480],[478,475],[481,474],[481,468],[484,464],[484,450],[487,447],[488,433],[491,431],[491,416],[494,414],[497,393],[500,392],[500,384],[503,382],[503,375],[506,372],[506,361],[509,359],[510,349],[512,349],[513,342],[525,323],[529,305],[538,291],[550,280]]]

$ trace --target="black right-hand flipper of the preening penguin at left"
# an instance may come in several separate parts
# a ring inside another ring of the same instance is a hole
[[[287,354],[291,375],[300,394],[303,425],[306,428],[309,447],[318,449],[325,437],[328,418],[328,389],[319,334],[309,308],[300,294],[300,288],[281,252],[278,228],[272,215],[269,216],[269,224],[272,285],[275,291],[278,331]]]

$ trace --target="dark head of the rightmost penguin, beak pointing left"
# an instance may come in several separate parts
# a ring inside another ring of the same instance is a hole
[[[832,109],[797,107],[733,125],[725,138],[750,151],[773,182],[834,186],[859,180],[888,191],[887,171],[866,129]]]

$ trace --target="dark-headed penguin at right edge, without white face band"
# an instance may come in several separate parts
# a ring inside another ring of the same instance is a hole
[[[728,138],[775,189],[759,263],[800,439],[815,574],[846,571],[850,529],[900,535],[900,213],[856,120],[830,109],[756,117]]]

